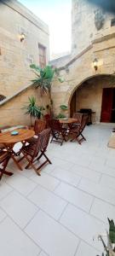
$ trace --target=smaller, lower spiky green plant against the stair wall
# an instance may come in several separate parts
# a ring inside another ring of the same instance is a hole
[[[32,117],[40,119],[41,116],[43,115],[44,108],[37,106],[36,98],[34,96],[28,97],[28,99],[29,99],[28,105],[25,106],[23,109],[26,109],[26,114],[30,115],[31,125],[32,125]]]

